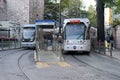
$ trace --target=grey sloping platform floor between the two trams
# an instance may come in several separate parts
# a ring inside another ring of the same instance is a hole
[[[36,62],[59,62],[64,61],[60,50],[52,50],[49,46],[46,50],[38,50],[34,52],[34,59]]]

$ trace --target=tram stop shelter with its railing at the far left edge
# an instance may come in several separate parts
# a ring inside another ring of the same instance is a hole
[[[21,28],[19,23],[4,22],[8,25],[0,27],[0,50],[15,49],[21,47]]]

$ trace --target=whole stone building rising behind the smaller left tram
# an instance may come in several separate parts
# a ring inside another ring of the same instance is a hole
[[[0,0],[0,20],[15,21],[20,25],[43,19],[44,0]]]

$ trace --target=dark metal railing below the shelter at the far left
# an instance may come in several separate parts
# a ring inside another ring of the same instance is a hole
[[[0,50],[20,48],[21,42],[18,39],[0,38]]]

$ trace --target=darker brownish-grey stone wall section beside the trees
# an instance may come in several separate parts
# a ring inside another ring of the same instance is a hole
[[[30,0],[29,6],[30,23],[34,23],[36,19],[43,19],[44,0]]]

